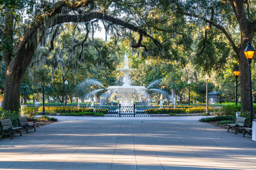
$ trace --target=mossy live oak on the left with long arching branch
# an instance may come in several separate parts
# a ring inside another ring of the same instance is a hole
[[[3,11],[1,13],[3,21],[1,27],[3,29],[0,30],[3,40],[1,44],[3,56],[1,59],[4,59],[7,69],[2,104],[4,110],[18,111],[21,80],[31,63],[35,50],[38,47],[44,47],[47,40],[50,41],[51,46],[46,54],[38,56],[38,63],[43,64],[45,62],[43,56],[49,55],[53,50],[53,41],[57,32],[63,30],[63,25],[61,25],[63,23],[86,23],[85,25],[90,24],[93,27],[92,22],[95,22],[93,20],[98,21],[100,19],[107,21],[105,29],[116,31],[116,35],[118,29],[123,28],[139,33],[139,39],[131,44],[133,48],[140,47],[143,37],[150,38],[158,48],[162,46],[158,40],[147,33],[146,29],[140,28],[143,17],[135,16],[138,13],[138,11],[135,11],[136,9],[143,7],[144,11],[147,12],[152,10],[156,4],[159,4],[158,1],[142,0],[138,3],[131,3],[130,1],[118,0],[96,2],[93,0],[61,0],[57,2],[19,0],[18,3],[15,2],[3,1],[0,4]],[[114,10],[113,12],[108,12],[110,6]],[[130,24],[132,21],[124,21],[118,18],[122,11],[127,12],[127,18],[138,19],[137,23]],[[27,18],[21,17],[24,12],[27,12]],[[25,24],[21,25],[23,19]],[[16,23],[19,23],[19,25],[16,25]],[[114,25],[116,26],[112,28]],[[87,37],[82,42],[74,44],[73,51],[75,51],[74,48],[79,46],[80,52],[82,52],[86,40]]]

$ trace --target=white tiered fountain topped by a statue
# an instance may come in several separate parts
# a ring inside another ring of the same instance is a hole
[[[125,52],[124,54],[125,66],[124,69],[117,69],[121,70],[124,74],[123,76],[123,85],[122,86],[109,86],[107,90],[112,90],[113,92],[117,92],[121,95],[121,106],[133,106],[132,104],[132,93],[134,92],[144,92],[146,89],[144,86],[131,86],[129,74],[132,71],[136,71],[136,69],[129,69],[128,65],[128,54]]]

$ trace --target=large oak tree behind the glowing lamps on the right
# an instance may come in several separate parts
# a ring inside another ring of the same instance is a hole
[[[239,60],[241,110],[249,110],[249,74],[248,63],[244,54],[247,42],[252,42],[256,31],[255,1],[248,0],[187,0],[172,1],[176,12],[189,17],[190,20],[203,21],[203,48],[207,42],[207,32],[211,27],[218,28],[226,37],[233,52]],[[205,23],[205,24],[204,24]],[[239,34],[240,38],[234,36]],[[254,41],[255,42],[255,41]]]

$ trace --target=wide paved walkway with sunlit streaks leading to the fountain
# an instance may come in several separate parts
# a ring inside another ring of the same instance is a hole
[[[256,169],[250,136],[200,117],[58,117],[13,140],[0,140],[0,169]]]

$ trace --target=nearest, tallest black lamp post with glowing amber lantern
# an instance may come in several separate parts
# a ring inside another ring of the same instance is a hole
[[[247,58],[248,64],[249,64],[249,88],[250,88],[250,123],[252,124],[253,119],[253,113],[252,113],[252,90],[251,90],[251,60],[253,57],[255,50],[251,46],[251,42],[247,43],[247,46],[245,48],[245,57]]]

